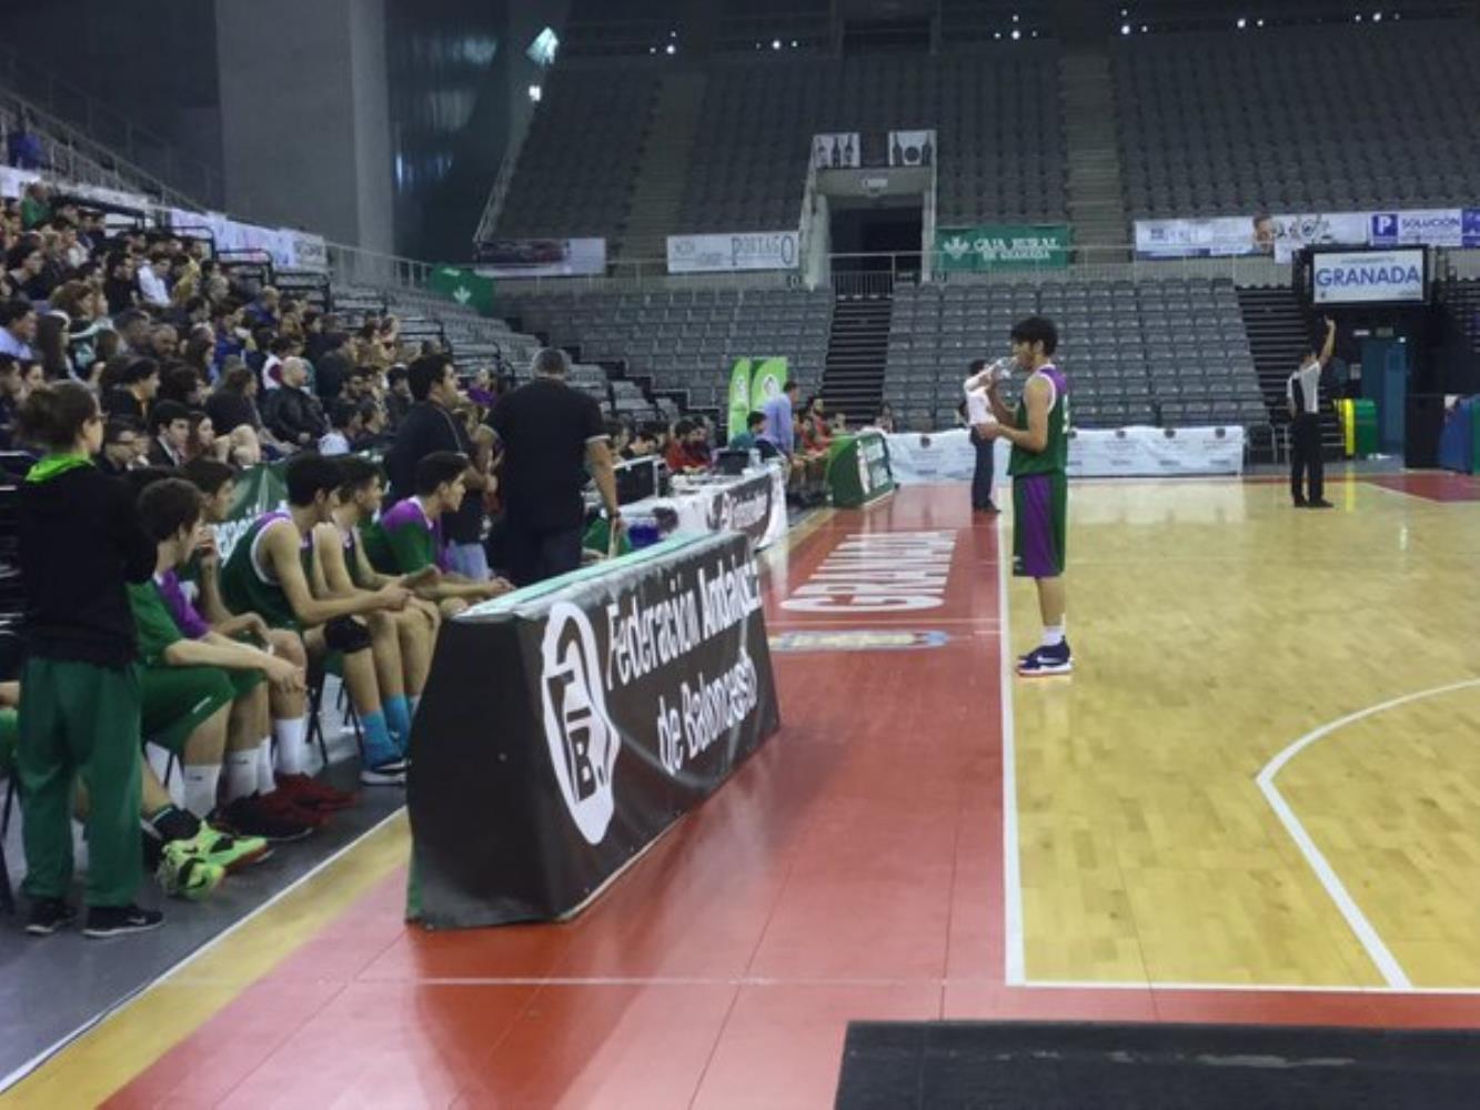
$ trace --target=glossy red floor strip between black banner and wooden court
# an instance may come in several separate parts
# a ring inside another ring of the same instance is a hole
[[[943,604],[780,607],[864,530],[953,530]],[[946,642],[777,654],[783,731],[580,919],[428,934],[398,876],[110,1106],[824,1107],[857,1018],[1480,1020],[1476,998],[1003,987],[996,559],[963,488],[838,514],[771,574],[771,632]]]

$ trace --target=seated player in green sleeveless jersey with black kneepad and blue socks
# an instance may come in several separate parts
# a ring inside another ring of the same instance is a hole
[[[269,628],[302,632],[311,660],[342,657],[345,688],[360,716],[366,786],[406,783],[408,737],[395,737],[386,722],[376,681],[370,630],[363,617],[406,608],[411,595],[388,585],[352,598],[315,598],[309,586],[314,527],[327,524],[339,503],[339,466],[317,451],[305,451],[287,466],[287,511],[259,517],[237,542],[221,573],[222,599],[237,613],[256,613]]]

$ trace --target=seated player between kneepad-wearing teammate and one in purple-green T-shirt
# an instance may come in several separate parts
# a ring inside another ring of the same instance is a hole
[[[379,574],[370,565],[360,543],[360,525],[373,521],[380,511],[385,497],[380,469],[357,456],[339,459],[339,469],[343,484],[339,487],[333,519],[314,528],[314,592],[318,596],[349,598],[394,583],[414,589],[417,583],[437,579],[435,567],[419,574],[392,577]],[[441,628],[441,611],[435,601],[413,598],[400,613],[371,613],[369,622],[380,694],[395,731],[397,718],[403,713],[414,716],[422,700],[426,675],[432,669],[432,645]],[[404,728],[410,730],[408,719]]]

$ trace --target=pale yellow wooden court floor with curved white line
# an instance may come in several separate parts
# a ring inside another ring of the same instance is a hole
[[[1077,670],[1017,688],[1029,981],[1480,989],[1480,505],[1440,496],[1077,490]],[[1425,691],[1271,777],[1302,852],[1261,771]]]

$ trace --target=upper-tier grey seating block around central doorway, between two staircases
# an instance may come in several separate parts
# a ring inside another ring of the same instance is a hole
[[[1057,65],[1051,43],[715,62],[679,229],[796,226],[813,135],[861,132],[864,164],[884,164],[887,133],[916,127],[938,132],[943,225],[1061,221]]]

